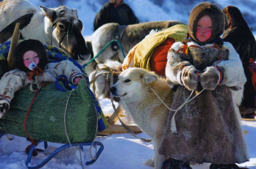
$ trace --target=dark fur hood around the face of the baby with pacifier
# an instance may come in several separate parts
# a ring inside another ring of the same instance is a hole
[[[48,53],[44,45],[39,40],[35,40],[35,39],[23,40],[15,48],[14,54],[13,54],[13,57],[15,60],[15,66],[24,72],[31,71],[29,70],[29,68],[26,68],[26,66],[23,63],[23,55],[29,50],[32,50],[37,53],[39,57],[39,63],[37,66],[42,70],[44,70],[46,64],[48,63]]]

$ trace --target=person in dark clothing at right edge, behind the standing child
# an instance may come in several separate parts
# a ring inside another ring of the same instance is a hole
[[[238,8],[227,6],[222,10],[225,15],[225,30],[222,38],[230,42],[243,63],[247,82],[244,86],[243,101],[239,107],[245,118],[254,118],[256,108],[256,40]]]

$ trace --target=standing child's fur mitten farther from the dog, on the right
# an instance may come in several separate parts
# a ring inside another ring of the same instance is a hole
[[[222,78],[218,68],[210,66],[200,76],[200,82],[205,90],[214,90],[215,87],[220,84]]]

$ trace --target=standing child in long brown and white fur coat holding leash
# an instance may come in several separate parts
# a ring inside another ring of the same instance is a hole
[[[220,38],[223,31],[220,8],[203,2],[190,13],[187,38],[169,49],[166,77],[176,90],[171,109],[199,94],[169,113],[159,153],[172,158],[173,168],[191,169],[192,161],[237,169],[235,163],[249,160],[234,104],[246,78],[234,47]]]

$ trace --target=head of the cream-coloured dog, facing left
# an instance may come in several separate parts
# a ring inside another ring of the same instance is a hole
[[[157,81],[154,72],[148,72],[141,68],[129,68],[121,72],[117,82],[110,88],[114,97],[137,100],[144,97],[143,91],[149,90],[150,83]]]

